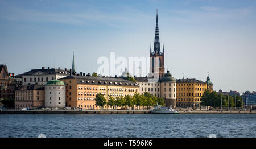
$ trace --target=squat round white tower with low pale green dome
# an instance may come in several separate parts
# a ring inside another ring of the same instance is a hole
[[[64,108],[66,106],[66,85],[63,81],[51,80],[44,87],[44,107]]]

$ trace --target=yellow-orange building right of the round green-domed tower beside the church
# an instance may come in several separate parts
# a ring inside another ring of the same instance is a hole
[[[177,79],[176,82],[177,107],[199,108],[207,83],[195,78]]]

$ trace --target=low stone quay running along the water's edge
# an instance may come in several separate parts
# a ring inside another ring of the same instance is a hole
[[[0,114],[150,114],[150,110],[2,110]],[[180,110],[180,114],[256,114],[256,111]]]

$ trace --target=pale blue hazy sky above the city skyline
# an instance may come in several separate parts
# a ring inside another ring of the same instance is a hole
[[[256,90],[256,1],[0,0],[0,63],[97,72],[98,57],[149,56],[156,9],[164,65],[214,90]]]

